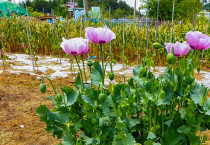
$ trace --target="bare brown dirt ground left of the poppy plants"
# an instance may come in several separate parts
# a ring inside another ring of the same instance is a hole
[[[75,75],[57,78],[53,82],[72,85],[73,77]],[[39,84],[40,80],[28,74],[17,75],[6,71],[0,74],[0,144],[56,145],[62,142],[45,131],[45,123],[36,115],[35,111],[39,105],[52,105],[52,102],[46,99],[53,93],[49,82],[45,81],[48,86],[45,94],[39,91]],[[24,125],[24,128],[21,128],[21,125]],[[210,131],[204,134],[208,134],[207,145],[210,145]]]

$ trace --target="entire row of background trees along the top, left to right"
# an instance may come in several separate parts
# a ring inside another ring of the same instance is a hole
[[[29,13],[44,12],[51,13],[52,9],[57,16],[66,17],[67,10],[64,4],[70,0],[26,0],[20,3],[24,7],[29,7]],[[138,1],[138,0],[137,0]],[[147,0],[139,0],[146,3]],[[173,0],[159,0],[159,20],[171,20]],[[83,7],[83,0],[75,0],[79,7]],[[200,0],[175,0],[175,20],[193,20],[193,16],[197,15],[203,8],[204,1]],[[134,8],[130,7],[124,1],[119,0],[88,0],[88,9],[93,6],[100,6],[103,11],[103,16],[109,17],[109,6],[111,6],[111,13],[113,18],[133,18]],[[149,1],[149,17],[157,17],[158,0]],[[139,9],[147,8],[146,5],[139,7]],[[139,15],[138,11],[137,16]]]

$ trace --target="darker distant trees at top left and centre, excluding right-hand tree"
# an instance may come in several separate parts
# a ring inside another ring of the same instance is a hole
[[[55,15],[66,17],[67,11],[64,7],[66,2],[69,2],[69,0],[26,0],[21,2],[20,5],[28,7],[29,13],[51,13],[54,10]],[[78,3],[79,7],[83,7],[83,0],[75,0],[75,2]],[[105,17],[108,16],[109,6],[112,8],[112,16],[114,18],[132,17],[134,11],[126,2],[118,2],[118,0],[88,0],[89,10],[93,6],[100,6]]]

